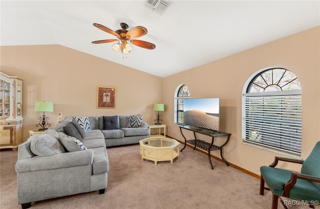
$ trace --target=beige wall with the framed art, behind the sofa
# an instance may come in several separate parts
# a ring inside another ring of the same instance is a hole
[[[47,113],[54,125],[57,114],[98,116],[141,114],[152,122],[153,103],[162,100],[162,79],[59,45],[1,47],[1,72],[24,79],[23,141],[36,129],[35,101],[53,102]],[[97,86],[115,87],[115,108],[96,108]]]

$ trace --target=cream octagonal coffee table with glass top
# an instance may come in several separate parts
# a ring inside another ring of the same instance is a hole
[[[148,159],[154,161],[156,165],[159,161],[173,162],[174,158],[179,158],[179,145],[175,139],[152,137],[139,141],[141,160]]]

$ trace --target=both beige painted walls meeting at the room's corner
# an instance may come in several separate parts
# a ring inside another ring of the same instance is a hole
[[[186,84],[192,98],[220,97],[221,130],[232,134],[225,158],[259,174],[260,165],[282,155],[241,143],[242,89],[252,74],[266,67],[283,67],[299,78],[305,158],[320,139],[319,30],[303,31],[163,79],[58,45],[1,47],[0,64],[1,72],[24,78],[24,141],[27,130],[36,128],[39,113],[33,108],[35,101],[41,100],[54,103],[54,112],[47,114],[52,124],[59,112],[76,116],[142,114],[144,121],[152,122],[152,104],[163,102],[162,122],[167,124],[168,135],[182,140],[173,124],[173,97],[176,87]],[[137,81],[137,86],[132,87],[131,81]],[[96,86],[116,87],[115,109],[96,109]],[[213,154],[219,157],[218,151]]]

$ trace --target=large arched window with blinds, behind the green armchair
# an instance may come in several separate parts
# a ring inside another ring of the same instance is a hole
[[[258,72],[244,87],[242,138],[293,153],[301,153],[301,87],[284,68]]]

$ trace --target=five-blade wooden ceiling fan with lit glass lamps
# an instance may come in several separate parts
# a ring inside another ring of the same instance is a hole
[[[155,45],[146,41],[136,40],[134,38],[138,38],[141,36],[144,36],[147,33],[146,28],[142,26],[134,27],[127,31],[128,25],[125,23],[120,23],[120,26],[122,29],[112,31],[111,29],[106,28],[105,26],[102,26],[97,23],[93,23],[93,26],[96,28],[111,34],[113,36],[116,36],[118,39],[106,39],[106,40],[99,40],[99,41],[93,41],[92,44],[104,44],[104,43],[110,43],[110,42],[118,42],[117,44],[114,44],[112,46],[112,49],[114,51],[121,50],[122,54],[129,54],[129,52],[132,50],[131,46],[128,44],[130,42],[133,45],[136,45],[138,47],[142,47],[144,49],[154,49]]]

